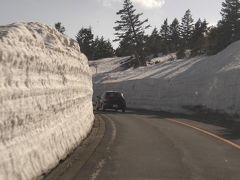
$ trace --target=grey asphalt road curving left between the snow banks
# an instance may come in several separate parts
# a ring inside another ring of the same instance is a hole
[[[238,140],[229,141],[235,147],[220,136],[211,136],[223,128],[134,111],[98,116],[106,121],[105,136],[76,180],[240,179]],[[199,128],[211,131],[210,135]]]

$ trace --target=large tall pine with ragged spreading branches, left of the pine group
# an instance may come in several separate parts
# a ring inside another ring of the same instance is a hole
[[[117,12],[120,16],[120,20],[117,20],[117,24],[114,27],[117,37],[115,41],[128,41],[125,44],[130,44],[134,47],[134,55],[136,62],[135,67],[145,65],[145,55],[143,54],[143,44],[144,44],[144,30],[149,28],[149,26],[144,26],[148,19],[141,21],[139,18],[143,13],[136,14],[136,9],[130,0],[124,0],[123,9]]]

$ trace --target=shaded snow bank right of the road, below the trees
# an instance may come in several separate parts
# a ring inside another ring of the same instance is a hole
[[[131,108],[239,115],[240,41],[214,56],[162,57],[157,64],[127,70],[121,67],[122,61],[124,58],[112,58],[90,63],[94,64],[94,96],[104,90],[119,90]]]

